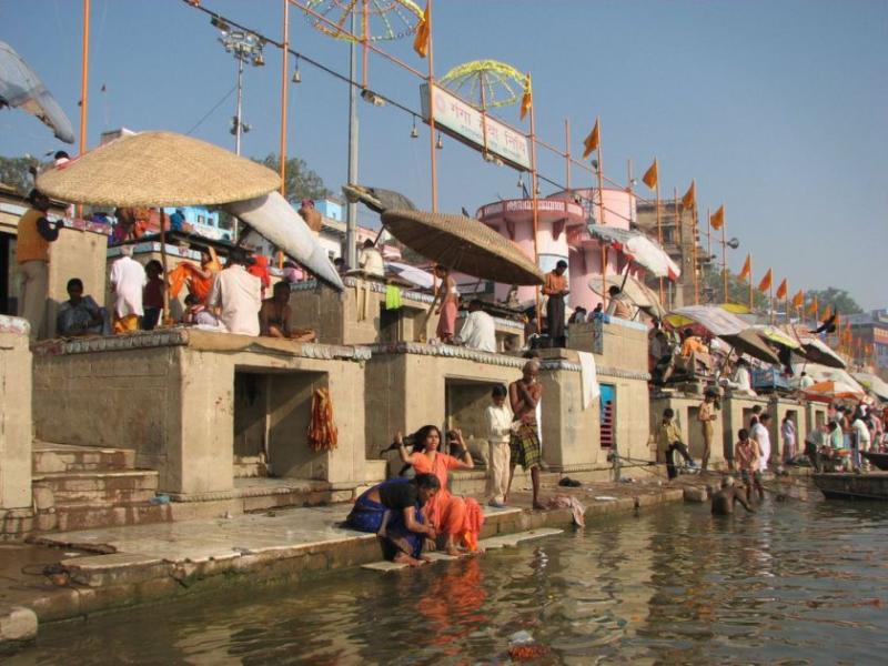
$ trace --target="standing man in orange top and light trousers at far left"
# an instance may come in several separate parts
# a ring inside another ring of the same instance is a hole
[[[31,204],[19,218],[16,260],[23,276],[19,316],[31,324],[31,340],[40,335],[49,291],[49,244],[59,238],[59,223],[47,219],[49,198],[38,190],[28,195]]]

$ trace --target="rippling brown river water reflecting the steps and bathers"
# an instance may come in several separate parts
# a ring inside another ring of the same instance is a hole
[[[9,663],[885,663],[888,503],[737,508],[675,504],[421,571],[41,627]]]

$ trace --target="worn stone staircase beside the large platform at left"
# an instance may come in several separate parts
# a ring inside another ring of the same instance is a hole
[[[152,503],[158,473],[135,468],[135,452],[34,442],[36,528],[90,529],[172,521],[169,504]]]

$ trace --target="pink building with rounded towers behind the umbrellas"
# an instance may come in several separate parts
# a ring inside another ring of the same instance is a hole
[[[592,204],[592,201],[595,201]],[[601,296],[589,289],[589,281],[602,279],[602,246],[589,236],[586,224],[598,223],[599,206],[597,190],[572,190],[558,192],[538,201],[537,250],[539,268],[548,272],[558,260],[567,261],[571,307],[582,305],[592,311]],[[604,190],[604,224],[629,229],[635,220],[635,195],[625,190]],[[533,200],[513,199],[497,201],[478,209],[476,216],[491,229],[513,241],[529,258],[534,255]],[[604,273],[615,274],[625,268],[625,259],[616,250],[609,250]],[[505,299],[509,285],[496,285],[496,297]],[[534,299],[534,287],[518,289],[518,299]]]

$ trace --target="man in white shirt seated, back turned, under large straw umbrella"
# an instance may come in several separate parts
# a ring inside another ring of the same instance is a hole
[[[259,335],[262,282],[246,272],[246,254],[235,249],[225,270],[218,273],[206,304],[219,309],[219,319],[229,333]]]

